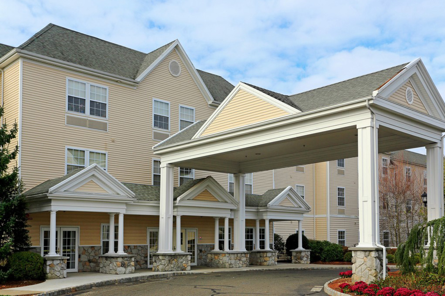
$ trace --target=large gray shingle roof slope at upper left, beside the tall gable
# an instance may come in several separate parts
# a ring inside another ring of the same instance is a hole
[[[128,79],[136,79],[172,42],[147,54],[49,24],[17,48]]]

